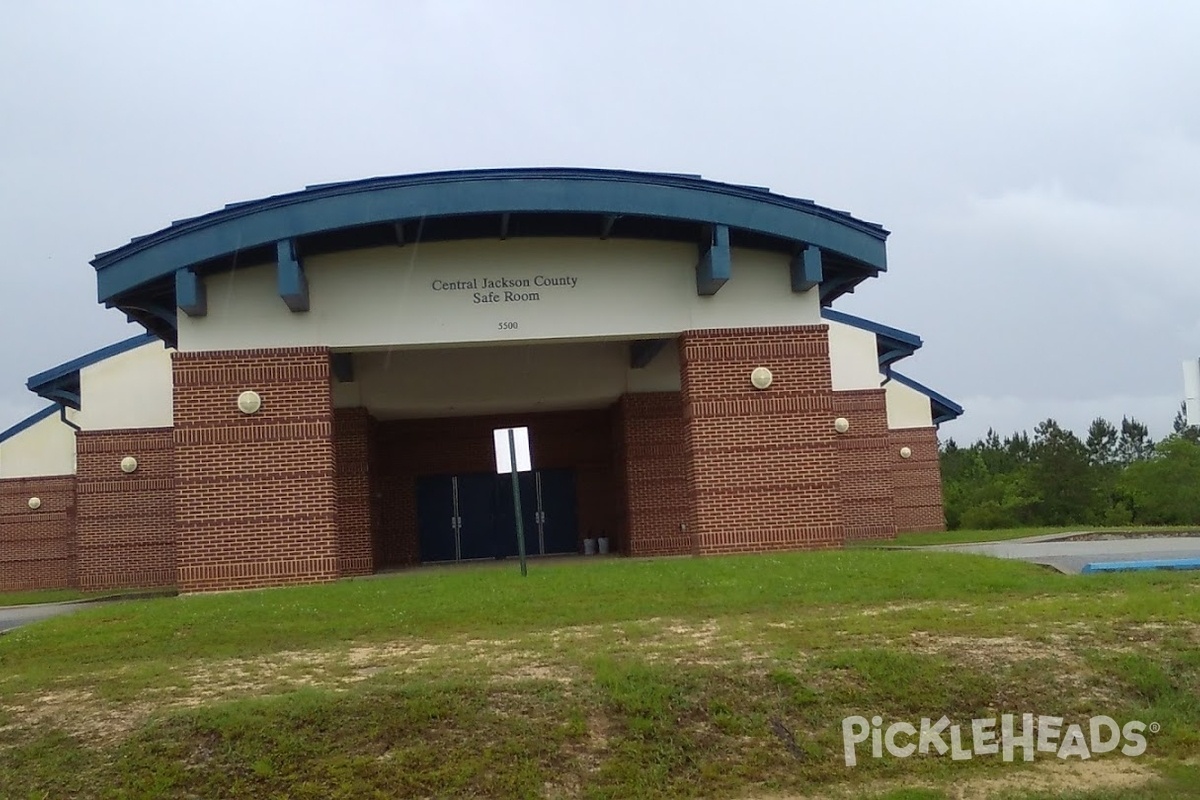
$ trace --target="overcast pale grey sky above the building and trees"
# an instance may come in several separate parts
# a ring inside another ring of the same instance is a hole
[[[700,173],[890,229],[838,302],[919,333],[943,427],[1132,414],[1200,356],[1200,4],[0,4],[0,429],[139,331],[90,258],[307,184]]]

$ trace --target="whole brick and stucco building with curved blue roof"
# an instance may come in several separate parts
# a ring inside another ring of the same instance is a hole
[[[0,590],[331,581],[527,549],[840,547],[943,525],[920,347],[834,311],[887,231],[769,191],[438,173],[229,205],[101,253],[145,332],[29,379]]]

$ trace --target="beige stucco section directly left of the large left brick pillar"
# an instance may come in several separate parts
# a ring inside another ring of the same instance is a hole
[[[79,371],[84,431],[170,427],[170,350],[161,342],[144,344]]]

